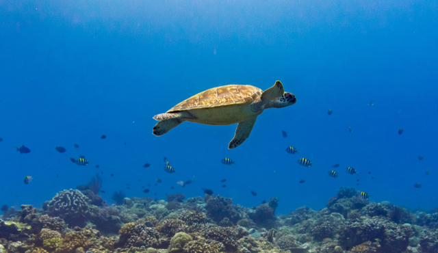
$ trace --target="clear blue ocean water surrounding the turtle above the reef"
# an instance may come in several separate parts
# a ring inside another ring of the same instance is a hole
[[[99,174],[108,203],[119,189],[166,199],[207,188],[246,207],[279,197],[276,213],[287,214],[355,187],[376,202],[437,207],[437,13],[411,0],[0,1],[0,204],[41,207]],[[152,134],[154,115],[198,92],[276,80],[297,103],[264,111],[233,150],[235,124]],[[70,161],[79,155],[90,165]]]

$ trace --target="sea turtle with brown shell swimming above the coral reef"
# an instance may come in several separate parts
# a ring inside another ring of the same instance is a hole
[[[294,103],[294,94],[284,92],[281,81],[276,81],[264,92],[251,85],[224,85],[198,93],[165,114],[155,115],[153,118],[159,122],[152,133],[164,135],[184,121],[212,125],[239,123],[228,146],[232,149],[249,137],[257,116],[264,109],[287,107]]]

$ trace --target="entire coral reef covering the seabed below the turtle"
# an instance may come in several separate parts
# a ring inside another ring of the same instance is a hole
[[[247,208],[222,196],[165,201],[118,191],[109,206],[97,181],[61,191],[42,209],[5,210],[0,253],[438,253],[436,209],[369,202],[353,188],[339,188],[320,211],[275,216],[279,198]]]

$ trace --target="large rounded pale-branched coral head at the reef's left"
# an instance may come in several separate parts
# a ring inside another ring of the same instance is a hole
[[[78,190],[64,190],[57,193],[48,204],[50,216],[61,217],[70,227],[85,226],[90,217],[90,200]]]

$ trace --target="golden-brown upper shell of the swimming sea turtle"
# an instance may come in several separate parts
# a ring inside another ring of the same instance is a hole
[[[252,85],[224,85],[191,96],[167,112],[252,103],[262,93],[263,90]]]

